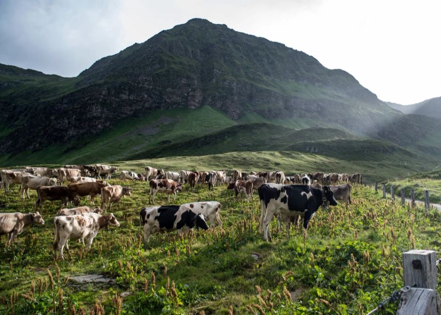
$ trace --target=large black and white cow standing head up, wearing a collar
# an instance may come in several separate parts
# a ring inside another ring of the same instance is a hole
[[[300,215],[303,217],[304,236],[306,237],[308,222],[314,217],[319,207],[321,205],[323,207],[337,205],[334,193],[328,186],[319,190],[307,185],[288,186],[270,183],[262,185],[258,192],[262,203],[259,232],[263,234],[265,241],[271,241],[270,222],[274,215]]]

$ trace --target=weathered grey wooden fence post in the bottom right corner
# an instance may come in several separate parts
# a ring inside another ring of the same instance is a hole
[[[437,315],[440,297],[436,292],[436,262],[434,250],[413,249],[403,253],[404,285],[414,288],[401,295],[396,314]]]

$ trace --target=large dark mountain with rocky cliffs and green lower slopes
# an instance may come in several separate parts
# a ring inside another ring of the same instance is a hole
[[[390,108],[349,73],[202,19],[104,57],[73,78],[0,65],[0,108],[0,163],[8,165],[176,156],[192,144],[199,154],[250,144],[304,150],[335,129],[344,132],[340,139],[362,139],[351,142],[364,144],[361,155],[383,145],[417,150],[412,145],[420,142],[437,149],[424,121]],[[325,129],[298,132],[314,127]],[[252,141],[244,145],[247,132]],[[344,142],[332,141],[344,152]],[[322,147],[337,153],[329,143]]]

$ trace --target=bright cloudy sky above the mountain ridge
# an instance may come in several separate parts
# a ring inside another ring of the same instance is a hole
[[[76,76],[193,18],[351,73],[381,100],[441,96],[440,0],[0,0],[0,63]]]

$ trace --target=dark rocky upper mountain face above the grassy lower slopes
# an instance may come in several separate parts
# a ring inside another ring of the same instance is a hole
[[[0,137],[0,153],[87,139],[123,118],[176,107],[209,105],[233,119],[246,113],[308,118],[373,137],[382,136],[378,125],[385,118],[402,120],[349,73],[200,19],[102,58],[69,82],[38,73],[35,89],[24,93],[23,75],[7,73],[2,80],[0,123],[12,131]],[[53,81],[53,95],[44,90],[35,101],[32,91],[43,89],[41,80]]]

